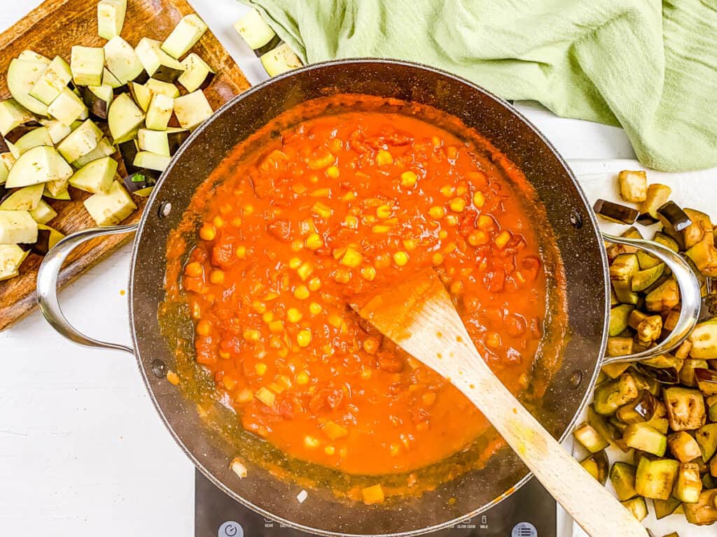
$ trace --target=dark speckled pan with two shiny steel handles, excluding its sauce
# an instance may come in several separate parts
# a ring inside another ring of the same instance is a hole
[[[262,465],[247,464],[249,473],[239,480],[229,469],[229,460],[237,450],[248,449],[252,439],[244,436],[242,442],[229,442],[206,425],[206,412],[197,412],[195,403],[165,378],[166,370],[174,364],[176,341],[191,339],[191,331],[184,335],[181,312],[174,342],[166,332],[163,335],[158,322],[158,306],[164,299],[168,233],[179,223],[196,188],[234,145],[281,112],[335,93],[397,97],[436,107],[474,127],[523,170],[545,207],[564,261],[569,321],[569,341],[559,372],[534,412],[556,437],[568,435],[589,397],[607,340],[609,280],[597,222],[570,169],[535,127],[508,102],[437,69],[375,59],[336,61],[298,69],[250,89],[194,132],[155,187],[138,226],[90,229],[58,243],[42,263],[37,293],[44,316],[72,341],[135,355],[168,430],[196,467],[232,498],[264,516],[313,533],[417,535],[490,508],[525,483],[528,471],[516,455],[504,449],[485,468],[465,473],[419,498],[367,506],[339,500],[328,487],[319,486],[300,503],[296,496],[302,486],[275,478]],[[55,284],[63,259],[79,243],[95,236],[133,231],[136,238],[128,286],[133,346],[124,347],[99,342],[72,328],[62,316]],[[675,347],[693,326],[699,309],[699,289],[688,266],[655,243],[610,239],[647,249],[668,262],[679,276],[683,315],[678,329],[651,354]],[[188,322],[184,319],[184,324]],[[274,456],[265,449],[267,458]],[[280,457],[275,460],[281,465]]]

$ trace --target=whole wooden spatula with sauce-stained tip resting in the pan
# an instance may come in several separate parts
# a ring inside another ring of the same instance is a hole
[[[493,374],[473,346],[431,269],[351,304],[399,347],[457,387],[592,537],[647,537],[647,531],[567,453]]]

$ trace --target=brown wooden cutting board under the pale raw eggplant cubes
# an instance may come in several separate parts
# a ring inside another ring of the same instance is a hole
[[[185,0],[128,0],[122,37],[133,47],[142,37],[162,41],[182,16],[192,12],[194,10]],[[32,49],[50,59],[59,55],[69,62],[70,49],[77,44],[85,47],[105,44],[105,39],[97,34],[97,1],[45,1],[0,35],[0,99],[10,96],[6,84],[7,67],[20,52]],[[242,71],[212,32],[207,31],[192,51],[217,73],[212,85],[204,90],[214,110],[250,87]],[[70,195],[72,201],[47,200],[57,211],[57,217],[48,225],[65,235],[95,226],[82,205],[82,200],[90,194],[70,188]],[[146,200],[137,196],[133,199],[139,209],[124,223],[136,222],[141,216]],[[60,286],[70,283],[132,237],[110,236],[89,241],[77,248],[60,273]],[[22,263],[19,276],[0,281],[0,330],[34,308],[35,279],[41,261],[41,256],[31,253]]]

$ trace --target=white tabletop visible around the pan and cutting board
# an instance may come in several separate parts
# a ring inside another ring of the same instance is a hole
[[[39,1],[1,4],[0,31]],[[246,8],[191,4],[250,82],[265,78],[232,29]],[[534,103],[518,108],[562,155],[587,160],[575,163],[584,173],[617,171],[625,166],[598,161],[634,158],[620,129],[561,119]],[[129,341],[129,252],[61,293],[69,319],[94,337]],[[0,367],[0,536],[194,535],[194,468],[156,415],[132,357],[77,347],[34,311],[0,332]]]

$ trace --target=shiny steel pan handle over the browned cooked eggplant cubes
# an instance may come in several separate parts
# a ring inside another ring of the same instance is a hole
[[[700,283],[692,267],[678,253],[670,250],[667,246],[663,246],[655,241],[647,241],[644,238],[627,238],[616,237],[602,233],[602,238],[611,243],[625,244],[627,246],[636,246],[642,250],[651,253],[656,258],[663,261],[665,265],[670,267],[673,275],[680,287],[680,318],[675,324],[675,328],[665,341],[658,344],[652,349],[647,349],[635,354],[626,354],[625,356],[604,357],[602,364],[612,364],[615,362],[637,362],[645,360],[659,354],[665,354],[676,349],[685,340],[692,329],[697,324],[700,316],[700,307],[702,302],[702,294],[700,292]]]

